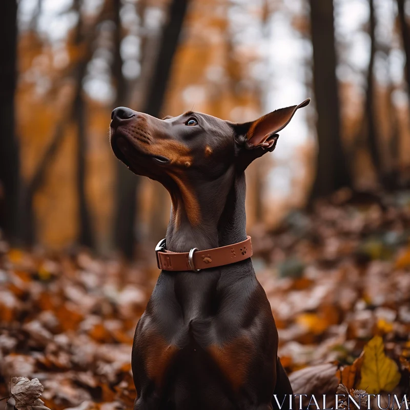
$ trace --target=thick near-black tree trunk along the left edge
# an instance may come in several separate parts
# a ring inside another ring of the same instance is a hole
[[[19,149],[14,129],[14,93],[17,80],[17,3],[8,0],[0,13],[0,227],[18,238],[20,191]]]

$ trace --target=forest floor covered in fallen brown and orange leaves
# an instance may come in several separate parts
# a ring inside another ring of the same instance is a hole
[[[295,393],[336,393],[340,382],[373,393],[370,353],[361,356],[373,348],[393,372],[375,375],[379,390],[408,394],[410,193],[340,195],[250,234]],[[133,406],[132,339],[157,275],[144,262],[0,241],[0,398],[25,376],[52,410]]]

